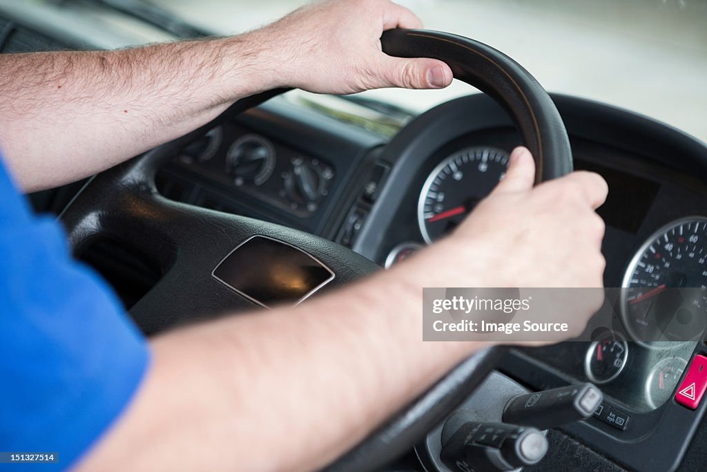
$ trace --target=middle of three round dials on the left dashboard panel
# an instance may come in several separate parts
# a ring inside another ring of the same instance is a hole
[[[226,172],[233,175],[235,185],[252,182],[261,185],[275,168],[275,148],[257,134],[245,134],[231,144],[226,154]]]

